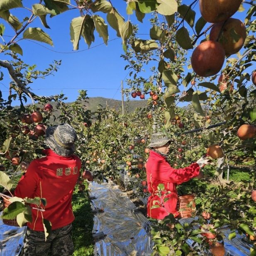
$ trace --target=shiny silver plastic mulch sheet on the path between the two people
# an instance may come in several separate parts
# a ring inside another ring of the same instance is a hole
[[[94,216],[95,256],[151,255],[151,222],[137,211],[126,193],[116,185],[93,182],[89,195],[93,210],[103,209]]]

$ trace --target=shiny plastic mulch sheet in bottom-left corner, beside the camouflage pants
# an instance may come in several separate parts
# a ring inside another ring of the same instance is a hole
[[[5,225],[0,219],[0,256],[18,256],[20,254],[26,229],[27,227]]]

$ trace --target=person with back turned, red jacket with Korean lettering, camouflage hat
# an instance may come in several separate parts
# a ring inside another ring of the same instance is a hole
[[[74,215],[71,199],[79,177],[81,161],[73,153],[76,132],[69,124],[46,129],[45,157],[34,159],[20,179],[15,196],[46,198],[47,204],[32,208],[32,222],[27,223],[22,256],[70,256]],[[43,219],[51,222],[51,232],[45,241]]]

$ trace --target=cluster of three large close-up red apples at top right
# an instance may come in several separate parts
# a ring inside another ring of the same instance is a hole
[[[246,27],[238,19],[230,18],[239,9],[242,0],[200,0],[202,17],[214,23],[210,40],[195,48],[191,65],[198,76],[208,77],[217,74],[224,63],[225,56],[237,53],[246,39]],[[232,35],[236,34],[237,40]]]

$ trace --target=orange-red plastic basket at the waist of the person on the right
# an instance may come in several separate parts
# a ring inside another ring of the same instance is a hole
[[[180,195],[178,197],[177,210],[183,209],[179,212],[181,218],[189,218],[192,216],[193,209],[188,207],[191,201],[193,202],[192,207],[195,208],[195,194]]]

